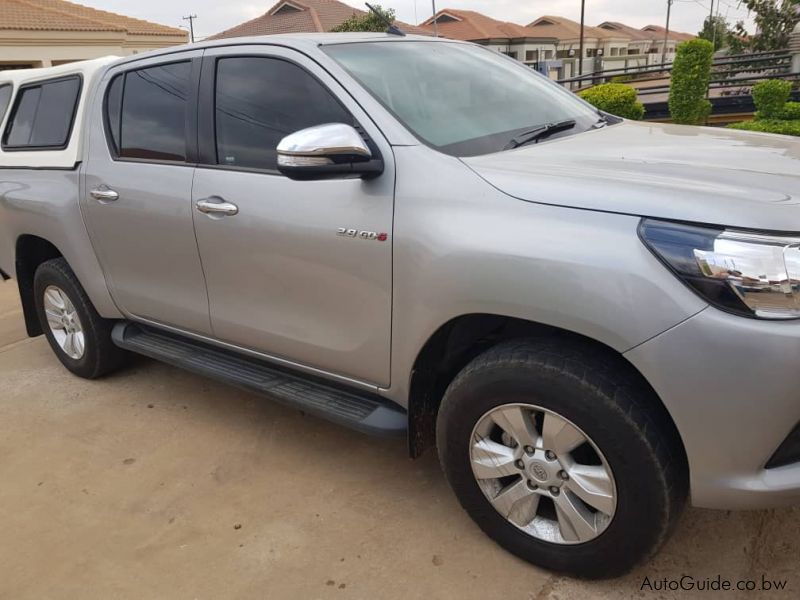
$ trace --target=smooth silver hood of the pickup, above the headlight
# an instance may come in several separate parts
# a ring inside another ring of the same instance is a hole
[[[529,202],[800,232],[792,137],[625,121],[463,161]]]

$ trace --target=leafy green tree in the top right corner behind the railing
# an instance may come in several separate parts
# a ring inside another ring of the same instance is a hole
[[[744,24],[736,24],[735,34],[746,39],[748,50],[754,52],[782,50],[789,45],[789,34],[800,20],[800,0],[741,0],[756,23],[756,33],[749,35]]]

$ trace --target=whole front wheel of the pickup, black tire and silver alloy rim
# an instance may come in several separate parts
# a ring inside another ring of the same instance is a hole
[[[439,457],[507,550],[579,577],[621,575],[663,543],[687,495],[674,429],[646,395],[580,346],[502,344],[448,387]]]

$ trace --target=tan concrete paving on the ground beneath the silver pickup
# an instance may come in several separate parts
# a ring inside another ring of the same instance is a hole
[[[629,576],[554,576],[472,524],[433,453],[410,461],[403,441],[144,359],[71,376],[25,337],[14,282],[0,283],[0,532],[3,600],[708,598],[641,588],[718,574],[800,595],[798,509],[692,509]]]

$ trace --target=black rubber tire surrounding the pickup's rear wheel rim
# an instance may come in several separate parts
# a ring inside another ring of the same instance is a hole
[[[48,287],[62,290],[72,305],[80,321],[84,336],[84,350],[80,358],[70,357],[56,341],[47,322],[44,307],[44,294]],[[50,347],[61,363],[78,377],[96,379],[107,375],[125,363],[127,353],[111,341],[114,321],[102,318],[86,295],[75,273],[63,258],[55,258],[39,265],[33,280],[36,313]]]

